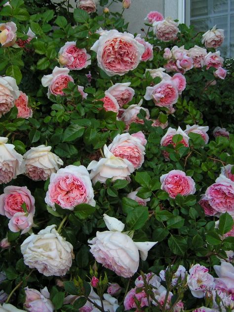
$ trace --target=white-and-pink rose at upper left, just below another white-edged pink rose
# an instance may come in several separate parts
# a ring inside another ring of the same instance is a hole
[[[72,76],[68,73],[70,70],[68,68],[59,68],[55,66],[52,74],[44,75],[41,78],[41,84],[43,87],[48,87],[47,96],[49,98],[50,94],[53,95],[64,95],[63,89],[67,88],[68,82],[74,82]]]

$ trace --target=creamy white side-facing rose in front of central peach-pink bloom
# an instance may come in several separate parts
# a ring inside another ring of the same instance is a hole
[[[92,160],[87,167],[87,170],[91,170],[90,179],[93,184],[97,181],[105,183],[107,179],[112,179],[112,181],[129,179],[129,175],[134,171],[134,166],[129,160],[116,157],[106,145],[104,156],[105,158],[99,161]]]

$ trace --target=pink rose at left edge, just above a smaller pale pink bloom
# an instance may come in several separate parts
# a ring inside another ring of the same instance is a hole
[[[16,213],[23,213],[23,203],[28,213],[35,212],[35,198],[26,186],[7,186],[0,195],[0,214],[11,219]]]

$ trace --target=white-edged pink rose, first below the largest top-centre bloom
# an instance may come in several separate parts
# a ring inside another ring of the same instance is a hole
[[[131,82],[116,83],[111,86],[105,93],[109,93],[117,100],[119,107],[130,102],[135,91],[129,87]]]

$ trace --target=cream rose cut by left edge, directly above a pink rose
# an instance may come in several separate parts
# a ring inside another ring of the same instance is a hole
[[[7,141],[8,138],[0,137],[0,184],[8,183],[25,172],[23,156],[15,151],[13,144],[7,144]]]

